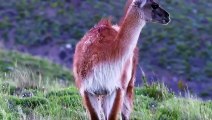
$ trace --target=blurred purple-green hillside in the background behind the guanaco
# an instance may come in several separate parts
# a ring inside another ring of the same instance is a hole
[[[159,3],[172,21],[167,26],[148,23],[143,29],[136,85],[142,85],[144,72],[148,82],[164,82],[176,93],[189,91],[212,99],[212,3]],[[71,69],[76,43],[102,17],[112,16],[117,23],[124,4],[125,0],[0,0],[0,48]]]

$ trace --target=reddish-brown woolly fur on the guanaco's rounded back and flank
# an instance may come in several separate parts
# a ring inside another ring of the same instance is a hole
[[[78,68],[77,77],[80,83],[80,80],[89,74],[94,65],[114,57],[111,53],[115,48],[111,47],[113,47],[113,39],[116,35],[117,31],[112,28],[110,19],[102,19],[77,44],[74,66]],[[79,83],[77,86],[80,86]]]

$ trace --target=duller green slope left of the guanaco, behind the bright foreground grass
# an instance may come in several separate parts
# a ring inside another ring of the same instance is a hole
[[[31,57],[18,52],[6,52],[0,49],[0,75],[10,79],[46,79],[45,82],[64,82],[69,85],[73,82],[71,71],[39,57]],[[5,73],[7,73],[5,75]],[[27,80],[28,81],[28,80]],[[26,81],[26,82],[27,82]],[[25,83],[26,84],[26,83]]]

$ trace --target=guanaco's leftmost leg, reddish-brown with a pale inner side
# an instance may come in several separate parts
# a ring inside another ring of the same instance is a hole
[[[101,101],[99,101],[95,95],[92,95],[86,91],[82,95],[82,98],[87,112],[90,115],[90,120],[101,120]]]

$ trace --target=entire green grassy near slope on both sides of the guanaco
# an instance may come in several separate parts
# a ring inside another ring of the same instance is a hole
[[[29,55],[1,51],[0,73],[0,119],[87,119],[72,77],[64,68]],[[134,120],[212,119],[211,101],[189,94],[177,97],[158,83],[136,88],[134,104]]]

